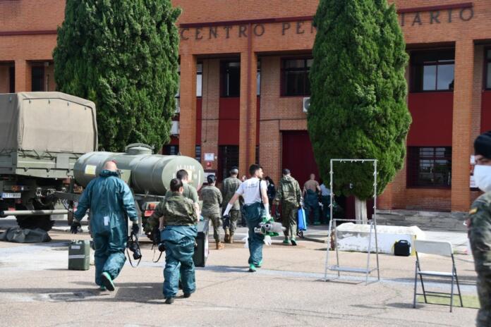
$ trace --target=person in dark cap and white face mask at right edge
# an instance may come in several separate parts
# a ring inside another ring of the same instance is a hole
[[[480,309],[476,326],[491,326],[491,131],[474,142],[475,184],[485,192],[471,206],[467,221],[475,271],[478,273]]]

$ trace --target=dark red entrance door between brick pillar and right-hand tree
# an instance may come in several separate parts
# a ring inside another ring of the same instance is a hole
[[[318,180],[319,169],[315,163],[308,132],[285,131],[281,134],[283,135],[281,168],[289,168],[291,175],[298,180],[301,187],[308,180],[310,173],[315,173]]]

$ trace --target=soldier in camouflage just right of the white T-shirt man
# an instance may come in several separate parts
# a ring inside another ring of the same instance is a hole
[[[276,204],[281,202],[281,218],[283,219],[285,244],[296,245],[296,228],[298,207],[302,202],[302,193],[300,185],[295,178],[291,177],[290,170],[283,170],[283,178],[279,181],[276,198]]]

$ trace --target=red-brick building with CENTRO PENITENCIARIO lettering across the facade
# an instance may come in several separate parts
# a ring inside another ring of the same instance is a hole
[[[317,0],[174,0],[183,8],[175,136],[164,153],[197,156],[219,177],[260,161],[316,172],[304,98]],[[473,139],[491,129],[491,4],[396,0],[411,63],[406,164],[384,209],[466,211]],[[51,52],[62,0],[0,0],[0,92],[54,90]],[[329,140],[328,140],[329,141]],[[335,142],[335,140],[334,140]]]

